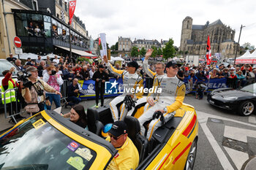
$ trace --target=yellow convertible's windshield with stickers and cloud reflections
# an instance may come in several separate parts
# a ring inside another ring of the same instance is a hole
[[[0,139],[0,169],[89,169],[96,152],[37,115]]]

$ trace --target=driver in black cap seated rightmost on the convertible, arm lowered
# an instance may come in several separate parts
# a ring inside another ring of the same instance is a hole
[[[148,104],[152,107],[138,118],[140,122],[140,132],[143,135],[145,134],[143,124],[151,120],[146,134],[148,139],[151,139],[154,131],[159,128],[162,123],[170,120],[176,114],[176,109],[180,108],[183,104],[186,86],[184,82],[176,77],[179,66],[181,66],[181,64],[176,63],[176,61],[169,61],[166,64],[165,68],[167,74],[162,77],[162,82],[158,87],[159,89],[162,89],[162,93],[157,93],[155,100],[152,97],[148,98]],[[149,95],[153,96],[154,94]],[[158,113],[157,118],[155,117],[156,113]],[[160,117],[165,121],[160,121]]]

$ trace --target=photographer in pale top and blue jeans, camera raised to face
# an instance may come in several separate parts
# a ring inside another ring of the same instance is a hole
[[[42,80],[47,82],[50,87],[54,88],[57,91],[60,91],[60,86],[63,84],[63,80],[60,74],[57,74],[56,69],[54,66],[49,66],[47,72],[43,75]],[[46,105],[47,109],[50,110],[51,104],[55,103],[56,108],[61,107],[61,96],[56,93],[48,93],[46,92],[46,97],[50,100],[50,106]]]

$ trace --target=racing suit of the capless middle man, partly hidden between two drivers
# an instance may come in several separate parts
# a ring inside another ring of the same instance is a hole
[[[159,85],[162,81],[162,77],[165,75],[165,74],[162,74],[162,75],[158,75],[156,72],[152,72],[151,69],[148,69],[148,60],[145,60],[143,61],[143,70],[144,72],[146,72],[146,74],[148,74],[148,77],[152,78],[153,79],[153,87],[152,88],[159,88]],[[151,96],[151,93],[148,94],[148,96]],[[154,97],[155,97],[155,94],[154,94]],[[148,97],[146,98],[140,98],[140,100],[147,100]],[[146,103],[146,105],[144,106],[144,112],[146,112],[147,109],[149,109],[151,106]]]

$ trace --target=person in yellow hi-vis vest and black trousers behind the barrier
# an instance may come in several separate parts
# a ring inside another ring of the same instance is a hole
[[[4,92],[8,89],[17,88],[18,83],[12,79],[12,72],[15,72],[15,67],[12,67],[10,70],[4,70],[2,74],[4,75],[4,79],[1,80],[1,102],[4,104]],[[7,104],[7,109],[9,112],[9,115],[14,115],[14,112],[18,113],[20,112],[20,105],[18,105],[18,108],[16,110],[16,97],[15,96],[15,90],[9,90],[7,93],[5,93],[5,103]],[[22,117],[20,115],[15,115],[15,119],[22,119],[25,117]],[[12,123],[15,123],[15,120],[11,118],[10,120]]]

